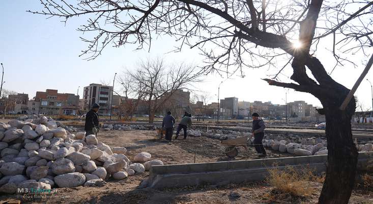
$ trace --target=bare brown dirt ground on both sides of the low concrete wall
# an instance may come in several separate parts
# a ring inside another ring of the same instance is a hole
[[[152,159],[160,159],[164,164],[182,164],[228,161],[219,140],[207,137],[186,140],[179,137],[172,143],[154,139],[155,131],[107,131],[100,132],[98,140],[110,146],[124,146],[127,157],[141,151],[152,154]],[[197,147],[197,150],[196,150]],[[196,151],[195,151],[196,150]],[[235,160],[256,159],[253,147],[248,151],[240,148]],[[286,157],[267,150],[268,157]],[[293,197],[273,190],[265,182],[242,183],[226,186],[199,186],[179,189],[137,189],[149,172],[129,176],[122,181],[107,181],[104,187],[59,188],[55,194],[28,194],[1,196],[0,200],[18,199],[22,203],[317,203],[322,184],[309,183],[314,192],[308,197]],[[0,203],[3,203],[0,201]],[[373,203],[373,192],[354,191],[350,203]]]

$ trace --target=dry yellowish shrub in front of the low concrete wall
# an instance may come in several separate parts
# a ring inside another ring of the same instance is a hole
[[[282,193],[292,196],[309,196],[314,189],[307,182],[323,183],[325,177],[313,173],[311,168],[295,170],[293,167],[279,169],[277,166],[268,170],[267,182]]]

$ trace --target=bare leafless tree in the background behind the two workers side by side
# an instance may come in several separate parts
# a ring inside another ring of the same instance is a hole
[[[149,123],[178,90],[199,82],[195,67],[183,63],[166,65],[161,59],[142,61],[136,71],[128,74],[133,80],[133,91],[147,100]]]

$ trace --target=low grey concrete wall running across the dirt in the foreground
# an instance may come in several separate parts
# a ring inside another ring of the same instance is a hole
[[[361,152],[358,167],[366,167],[369,159],[373,159],[373,152]],[[141,187],[169,188],[263,181],[268,176],[268,169],[275,168],[275,164],[280,169],[284,169],[286,166],[300,168],[308,165],[317,173],[321,173],[326,171],[326,163],[327,155],[320,155],[153,166],[149,179],[142,183]]]

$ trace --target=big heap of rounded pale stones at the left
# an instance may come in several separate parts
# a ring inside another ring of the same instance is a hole
[[[104,180],[125,179],[153,165],[148,152],[126,157],[125,147],[110,147],[85,132],[71,134],[51,118],[22,117],[0,122],[0,192],[17,188],[103,186]],[[23,121],[22,121],[23,120]]]

